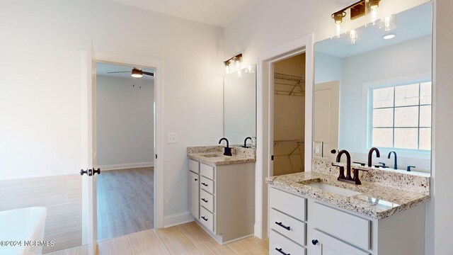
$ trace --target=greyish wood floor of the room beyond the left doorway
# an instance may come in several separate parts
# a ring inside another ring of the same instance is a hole
[[[98,240],[154,227],[154,168],[103,171],[98,185]]]

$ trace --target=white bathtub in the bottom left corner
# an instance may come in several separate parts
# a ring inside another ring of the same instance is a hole
[[[44,207],[1,211],[0,254],[42,254],[42,244],[33,242],[42,241],[46,216]]]

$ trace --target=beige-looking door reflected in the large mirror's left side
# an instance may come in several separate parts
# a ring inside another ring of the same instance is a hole
[[[314,142],[323,142],[323,157],[334,157],[338,150],[340,81],[314,86]]]

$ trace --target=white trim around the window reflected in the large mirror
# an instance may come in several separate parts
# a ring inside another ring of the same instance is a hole
[[[371,123],[371,116],[369,113],[369,104],[371,103],[370,98],[370,89],[379,89],[379,88],[386,88],[389,86],[398,86],[403,84],[411,84],[411,82],[420,81],[432,81],[432,74],[431,72],[424,72],[420,74],[411,74],[405,75],[401,77],[392,77],[389,79],[381,79],[375,81],[367,81],[362,84],[362,121],[361,121],[361,130],[362,130],[362,137],[365,139],[362,140],[361,150],[362,153],[368,153],[369,151],[369,136],[370,128],[369,123]],[[379,148],[379,150],[383,154],[387,154],[391,151],[396,151],[398,156],[401,157],[416,157],[419,159],[430,159],[431,152],[428,151],[415,151],[415,150],[408,150],[408,149],[394,149],[394,148]]]

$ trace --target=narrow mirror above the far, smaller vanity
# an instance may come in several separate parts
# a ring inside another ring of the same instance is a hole
[[[224,137],[230,145],[256,137],[256,65],[224,76]]]

